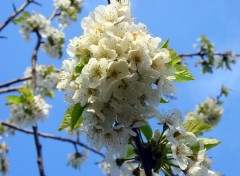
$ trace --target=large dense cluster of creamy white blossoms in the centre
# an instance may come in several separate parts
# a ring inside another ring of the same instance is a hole
[[[144,24],[135,24],[128,0],[99,6],[81,22],[83,35],[70,40],[58,88],[71,105],[85,107],[87,139],[98,150],[124,152],[133,128],[161,118],[162,94],[175,93],[169,51]]]

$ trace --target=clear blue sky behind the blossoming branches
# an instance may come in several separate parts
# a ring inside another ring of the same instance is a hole
[[[86,16],[99,4],[106,4],[107,0],[86,0],[83,4],[83,12],[79,19]],[[12,2],[2,1],[0,5],[0,23],[12,13]],[[18,7],[23,1],[17,1]],[[28,11],[43,12],[49,16],[53,7],[52,1],[43,1],[43,7],[29,6]],[[205,34],[215,43],[219,52],[232,49],[240,53],[240,1],[238,0],[132,0],[133,15],[137,22],[145,23],[153,36],[159,36],[163,40],[170,39],[170,47],[179,53],[193,52],[192,45],[196,39]],[[35,38],[30,42],[24,42],[18,34],[18,26],[9,25],[1,35],[8,37],[0,40],[1,64],[0,83],[17,77],[21,77],[26,67],[30,66],[31,53]],[[66,30],[68,40],[81,35],[79,21],[74,23],[71,29]],[[67,58],[64,52],[64,58]],[[60,68],[62,60],[49,59],[43,52],[39,54],[38,63],[54,64]],[[177,83],[177,100],[169,105],[159,107],[159,110],[179,108],[184,114],[195,108],[197,103],[206,99],[207,96],[216,96],[222,84],[232,89],[229,97],[224,99],[224,115],[221,123],[213,131],[206,134],[222,141],[222,144],[212,149],[209,156],[214,161],[213,169],[227,176],[236,175],[240,167],[240,64],[232,67],[232,72],[217,70],[213,75],[201,75],[200,69],[193,67],[196,59],[189,58],[189,69],[196,77],[189,83]],[[9,117],[9,111],[4,106],[5,96],[0,95],[1,119]],[[56,93],[54,100],[48,100],[53,105],[50,116],[45,123],[39,124],[40,131],[66,136],[64,132],[57,132],[66,109],[63,93]],[[10,146],[9,176],[35,176],[38,175],[36,165],[36,151],[33,136],[16,133],[14,137],[6,139]],[[84,141],[84,139],[83,139]],[[66,166],[67,154],[74,151],[70,144],[42,139],[43,158],[45,170],[48,176],[77,176],[77,175],[101,175],[101,171],[94,162],[101,158],[89,153],[90,157],[82,165],[80,170],[73,170]]]

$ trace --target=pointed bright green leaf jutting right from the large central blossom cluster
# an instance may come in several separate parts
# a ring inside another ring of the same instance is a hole
[[[175,81],[185,82],[190,80],[195,80],[193,75],[188,71],[188,69],[183,65],[174,65],[176,71],[174,73]]]

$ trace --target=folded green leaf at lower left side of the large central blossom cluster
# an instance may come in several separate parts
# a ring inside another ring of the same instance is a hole
[[[81,125],[83,122],[82,112],[84,111],[86,106],[81,107],[80,103],[76,103],[70,106],[65,114],[63,121],[58,128],[59,131],[63,130],[64,128],[70,128],[73,130]]]

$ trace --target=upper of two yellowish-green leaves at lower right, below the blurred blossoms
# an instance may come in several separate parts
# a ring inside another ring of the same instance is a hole
[[[214,128],[202,120],[188,120],[183,126],[188,132],[193,132],[195,135]]]

